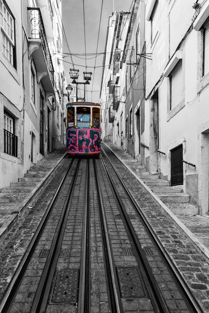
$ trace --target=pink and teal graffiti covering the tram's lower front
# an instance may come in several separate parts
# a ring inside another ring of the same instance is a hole
[[[99,129],[68,129],[67,152],[76,154],[100,154]]]

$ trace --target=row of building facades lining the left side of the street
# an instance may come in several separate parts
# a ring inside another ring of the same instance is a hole
[[[64,142],[60,0],[0,0],[0,187]]]

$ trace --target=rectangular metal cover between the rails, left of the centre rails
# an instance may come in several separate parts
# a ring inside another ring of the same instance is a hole
[[[79,270],[57,271],[49,304],[78,302]]]

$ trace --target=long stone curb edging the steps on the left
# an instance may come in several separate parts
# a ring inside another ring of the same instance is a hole
[[[33,189],[33,191],[29,193],[28,197],[25,198],[25,200],[17,207],[16,211],[17,212],[19,211],[19,212],[16,213],[16,214],[12,214],[11,217],[9,217],[7,219],[7,221],[5,223],[3,223],[3,226],[0,228],[0,242],[7,235],[8,231],[10,230],[10,228],[16,223],[18,218],[20,218],[21,213],[23,213],[23,211],[27,208],[28,203],[31,200],[33,200],[33,198],[36,195],[36,193],[41,189],[41,187],[43,186],[45,181],[48,179],[48,177],[51,175],[51,173],[54,171],[54,169],[58,166],[59,162],[62,161],[62,159],[64,158],[65,155],[66,155],[66,152],[59,159],[59,161],[55,164],[55,166],[53,168],[51,168],[51,170],[48,172],[48,174],[45,177],[43,177],[43,179],[38,183],[38,185]]]

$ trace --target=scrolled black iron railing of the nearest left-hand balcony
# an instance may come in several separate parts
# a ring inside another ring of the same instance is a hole
[[[54,85],[54,67],[52,63],[51,54],[48,48],[48,42],[46,38],[46,33],[44,30],[43,20],[41,17],[41,12],[39,8],[28,8],[30,12],[30,28],[31,28],[31,38],[41,39],[42,48],[46,58],[46,63],[48,71]]]

